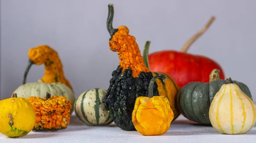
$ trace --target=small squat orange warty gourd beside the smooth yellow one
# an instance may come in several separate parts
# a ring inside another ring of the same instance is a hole
[[[46,98],[31,96],[28,98],[32,104],[36,123],[33,131],[56,131],[67,128],[70,123],[71,102],[64,96],[51,96],[47,93]]]

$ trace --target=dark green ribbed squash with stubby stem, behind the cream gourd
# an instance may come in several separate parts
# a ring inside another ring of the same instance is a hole
[[[177,94],[177,104],[181,114],[191,121],[204,125],[211,125],[209,120],[210,104],[225,80],[219,79],[219,70],[212,70],[210,81],[191,82],[186,84]],[[249,88],[239,82],[233,81],[249,98],[253,99]]]

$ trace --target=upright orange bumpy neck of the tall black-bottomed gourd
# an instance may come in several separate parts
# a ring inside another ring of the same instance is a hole
[[[119,26],[118,31],[109,41],[109,48],[118,52],[120,68],[123,68],[123,71],[131,68],[134,77],[138,77],[140,72],[150,72],[145,66],[135,37],[129,35],[129,29],[126,26]]]

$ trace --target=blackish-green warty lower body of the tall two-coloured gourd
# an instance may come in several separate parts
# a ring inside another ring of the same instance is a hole
[[[139,77],[134,78],[131,68],[125,69],[124,73],[122,70],[119,65],[112,72],[108,92],[102,101],[116,126],[123,130],[134,130],[131,114],[135,100],[139,96],[148,96],[148,85],[153,75],[151,72],[141,72]],[[154,83],[154,96],[157,95],[157,84]]]

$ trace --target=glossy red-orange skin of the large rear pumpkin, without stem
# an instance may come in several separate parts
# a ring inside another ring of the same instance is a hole
[[[220,79],[224,79],[221,66],[205,56],[165,50],[148,55],[150,70],[167,73],[178,87],[194,82],[209,82],[209,74],[213,69],[220,70]]]

